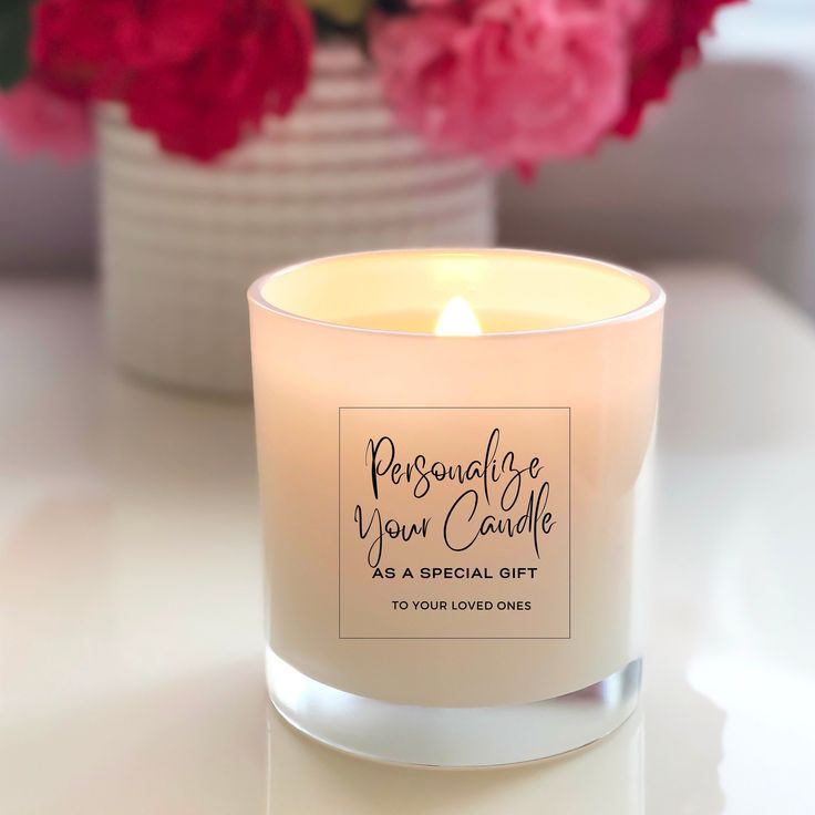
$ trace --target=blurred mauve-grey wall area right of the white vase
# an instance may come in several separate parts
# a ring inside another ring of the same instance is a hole
[[[502,200],[508,244],[735,261],[815,312],[815,71],[711,62],[637,143],[548,167],[532,187],[508,178]]]

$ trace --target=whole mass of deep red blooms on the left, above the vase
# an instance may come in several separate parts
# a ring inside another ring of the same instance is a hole
[[[122,100],[162,146],[209,161],[305,91],[301,0],[41,0],[32,56],[63,93]]]

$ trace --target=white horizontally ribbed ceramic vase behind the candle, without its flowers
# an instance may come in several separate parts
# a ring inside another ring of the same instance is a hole
[[[127,370],[250,390],[246,289],[296,260],[362,249],[488,246],[494,179],[400,130],[358,49],[318,49],[286,120],[216,165],[164,154],[122,107],[99,112],[109,337]]]

